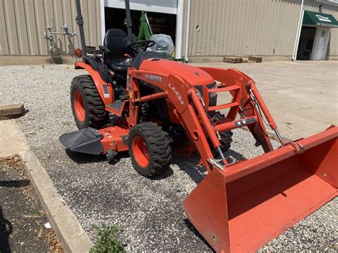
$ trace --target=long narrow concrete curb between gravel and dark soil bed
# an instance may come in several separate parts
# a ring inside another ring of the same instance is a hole
[[[21,152],[20,157],[46,211],[48,220],[58,238],[61,239],[63,250],[65,252],[88,252],[93,245],[91,239],[56,191],[51,178],[36,155],[29,150]]]

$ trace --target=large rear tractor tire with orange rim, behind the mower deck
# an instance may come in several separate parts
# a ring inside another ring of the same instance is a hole
[[[78,129],[99,129],[108,123],[105,105],[89,75],[76,76],[71,81],[71,109]]]

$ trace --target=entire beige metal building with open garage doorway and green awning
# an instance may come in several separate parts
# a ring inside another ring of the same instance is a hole
[[[88,46],[123,26],[124,0],[81,5]],[[170,33],[176,56],[189,61],[338,59],[338,0],[130,0],[130,8],[135,33],[148,11],[153,31]],[[75,18],[75,0],[0,0],[0,63],[73,62]]]

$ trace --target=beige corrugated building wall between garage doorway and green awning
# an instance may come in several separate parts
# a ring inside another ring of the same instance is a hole
[[[266,56],[291,60],[301,0],[192,0],[190,60],[217,56]],[[306,10],[319,11],[319,3],[305,1]],[[322,4],[323,12],[337,7]],[[200,26],[200,31],[195,29]],[[331,51],[337,55],[337,32],[332,29]],[[335,45],[333,45],[335,43]]]

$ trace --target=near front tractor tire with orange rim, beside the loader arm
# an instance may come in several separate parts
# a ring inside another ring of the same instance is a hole
[[[135,125],[129,132],[129,155],[135,170],[145,177],[163,174],[170,166],[168,133],[153,122]]]

